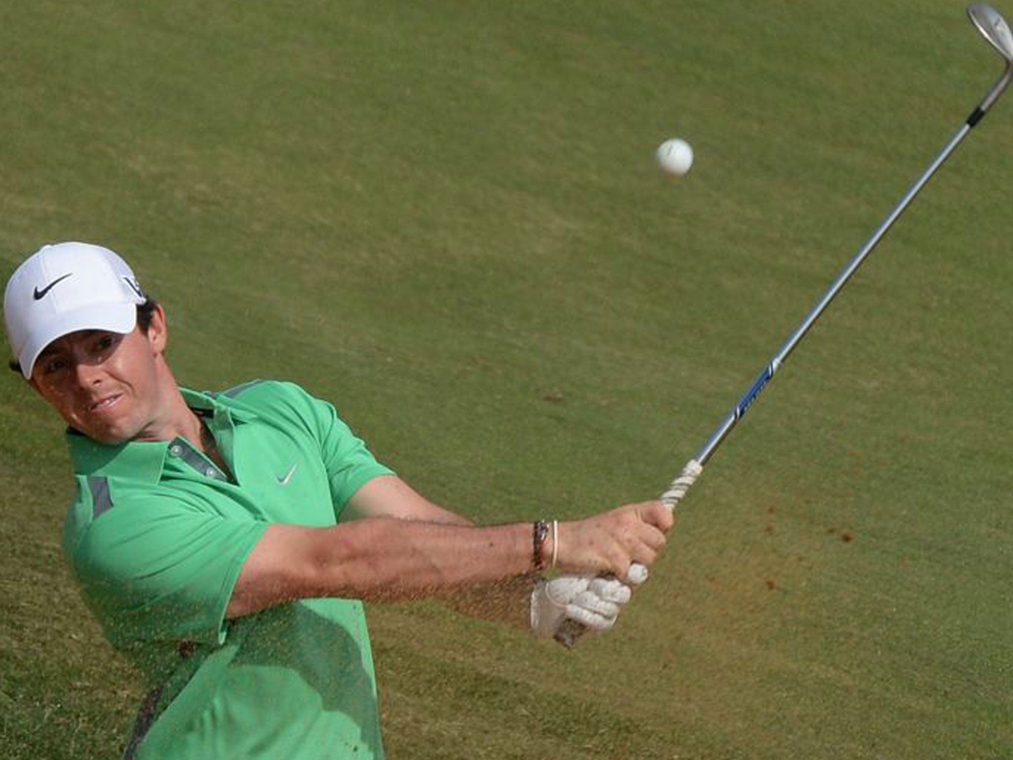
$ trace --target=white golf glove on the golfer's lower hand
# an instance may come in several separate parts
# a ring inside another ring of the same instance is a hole
[[[531,629],[539,638],[552,638],[563,620],[571,619],[589,633],[603,633],[615,624],[630,594],[615,578],[560,576],[539,581],[531,592]]]

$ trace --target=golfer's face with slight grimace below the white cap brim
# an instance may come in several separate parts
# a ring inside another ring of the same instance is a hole
[[[31,370],[32,387],[69,426],[105,444],[153,440],[161,412],[159,366],[165,321],[147,332],[71,332],[54,340]]]

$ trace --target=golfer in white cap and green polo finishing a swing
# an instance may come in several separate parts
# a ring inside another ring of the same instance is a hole
[[[297,385],[180,387],[163,308],[101,246],[32,254],[4,318],[12,369],[68,425],[67,560],[150,688],[126,758],[383,758],[364,601],[601,632],[630,590],[596,576],[651,564],[672,527],[657,502],[474,526]]]

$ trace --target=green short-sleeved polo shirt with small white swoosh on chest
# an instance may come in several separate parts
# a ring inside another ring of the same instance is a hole
[[[229,472],[181,438],[68,435],[77,496],[64,550],[106,637],[151,688],[126,757],[383,758],[361,602],[225,612],[268,525],[334,525],[358,488],[391,471],[291,383],[180,390]]]

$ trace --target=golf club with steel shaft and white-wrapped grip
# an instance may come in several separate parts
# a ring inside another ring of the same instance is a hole
[[[1007,85],[1010,83],[1010,78],[1013,77],[1013,32],[1010,31],[1009,24],[1006,23],[1006,19],[993,8],[989,3],[971,3],[967,6],[967,15],[970,17],[971,22],[978,27],[978,30],[985,35],[985,39],[989,41],[993,48],[999,51],[999,54],[1006,61],[1006,68],[1003,71],[1002,76],[996,81],[989,90],[988,94],[970,112],[966,121],[960,126],[956,135],[949,141],[942,152],[936,157],[928,169],[918,178],[918,180],[912,185],[911,189],[908,191],[907,195],[901,200],[889,216],[886,217],[885,221],[879,225],[876,231],[868,239],[865,245],[862,246],[861,250],[855,255],[854,258],[845,267],[844,271],[838,276],[837,280],[831,285],[830,289],[824,294],[823,298],[820,299],[819,303],[812,308],[802,323],[795,329],[791,336],[785,341],[781,347],[781,350],[774,356],[770,364],[768,364],[760,376],[757,378],[756,382],[750,387],[746,394],[742,397],[734,408],[725,417],[724,422],[717,428],[716,431],[711,435],[710,439],[707,441],[706,445],[697,453],[697,455],[686,463],[682,472],[676,477],[659,497],[659,500],[669,509],[674,510],[676,506],[682,501],[683,497],[686,496],[686,491],[689,490],[690,486],[696,481],[696,478],[703,471],[703,466],[707,463],[710,457],[717,450],[717,447],[721,445],[721,442],[727,437],[731,430],[735,427],[739,420],[749,410],[750,405],[757,399],[767,383],[774,376],[774,373],[781,367],[784,361],[788,358],[791,352],[794,350],[795,346],[802,339],[812,324],[820,318],[824,310],[830,305],[830,302],[834,300],[834,297],[841,291],[848,280],[851,279],[852,275],[855,274],[856,270],[862,264],[865,258],[869,255],[876,244],[882,239],[889,228],[898,220],[901,214],[904,213],[905,209],[911,204],[918,193],[925,186],[925,183],[929,181],[932,175],[936,172],[942,163],[949,157],[960,141],[967,135],[975,125],[982,121],[986,112],[992,106],[992,104],[999,98],[999,96],[1006,89]],[[647,578],[647,568],[641,564],[634,564],[630,567],[628,574],[628,580],[632,583],[639,584],[645,581]],[[560,625],[559,630],[555,634],[557,641],[562,643],[564,647],[572,647],[576,639],[583,633],[585,628],[580,623],[574,620],[565,619]]]

